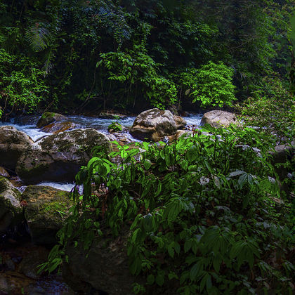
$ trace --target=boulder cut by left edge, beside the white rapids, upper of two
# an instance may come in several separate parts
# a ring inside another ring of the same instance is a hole
[[[14,170],[18,159],[34,141],[13,126],[0,127],[0,164]]]

